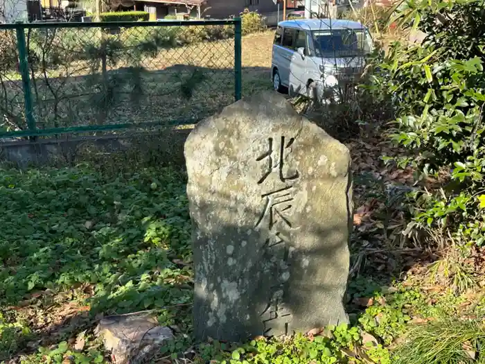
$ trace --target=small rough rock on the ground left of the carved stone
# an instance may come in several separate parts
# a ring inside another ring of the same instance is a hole
[[[116,364],[142,363],[173,339],[168,327],[161,327],[151,315],[117,315],[100,320],[96,335],[103,336],[105,348]]]

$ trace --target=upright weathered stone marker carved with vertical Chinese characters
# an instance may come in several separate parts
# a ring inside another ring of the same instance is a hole
[[[196,338],[346,322],[349,150],[271,92],[198,123],[185,155]]]

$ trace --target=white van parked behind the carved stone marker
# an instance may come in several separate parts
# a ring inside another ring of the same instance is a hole
[[[342,89],[362,75],[372,46],[369,30],[357,21],[281,21],[273,44],[273,87],[288,89],[290,96],[337,101]]]

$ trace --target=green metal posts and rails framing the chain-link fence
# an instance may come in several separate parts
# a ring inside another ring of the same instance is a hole
[[[238,101],[242,94],[242,24],[240,18],[227,20],[183,20],[183,21],[110,21],[99,23],[17,23],[0,24],[0,31],[15,30],[17,34],[17,49],[19,51],[19,72],[21,73],[24,89],[24,104],[26,125],[28,130],[0,132],[0,138],[8,137],[40,137],[56,134],[76,134],[82,132],[113,131],[129,128],[150,127],[161,125],[153,121],[147,123],[123,123],[112,125],[81,125],[62,128],[38,129],[33,114],[32,90],[30,88],[30,73],[28,66],[28,51],[26,45],[26,29],[48,28],[133,28],[148,26],[234,26],[234,100]],[[193,121],[191,121],[193,123]],[[163,123],[166,125],[166,123]],[[171,125],[182,125],[183,121],[173,121]]]

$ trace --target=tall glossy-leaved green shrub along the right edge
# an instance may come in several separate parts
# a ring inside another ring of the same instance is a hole
[[[410,196],[414,226],[460,245],[485,243],[484,6],[485,0],[409,3],[398,24],[427,36],[418,45],[394,44],[374,77],[394,99],[391,139],[409,151],[399,165],[445,182]]]

